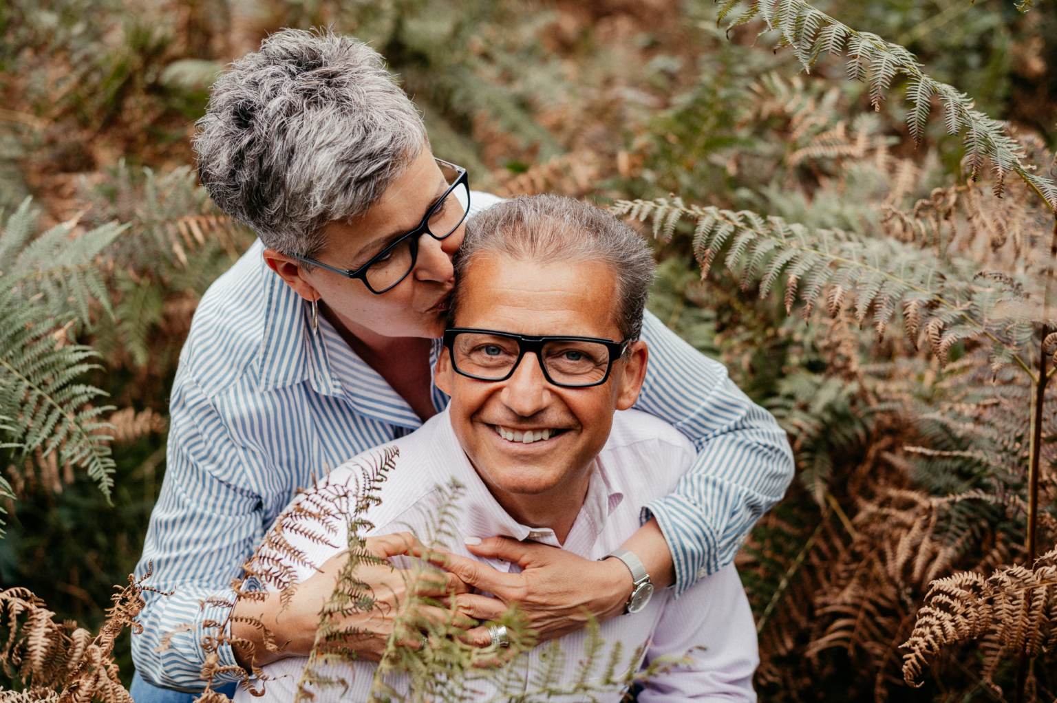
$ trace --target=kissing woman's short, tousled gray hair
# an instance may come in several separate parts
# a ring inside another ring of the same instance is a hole
[[[322,225],[365,212],[428,145],[382,56],[333,32],[283,30],[212,87],[199,178],[266,246],[313,257]]]

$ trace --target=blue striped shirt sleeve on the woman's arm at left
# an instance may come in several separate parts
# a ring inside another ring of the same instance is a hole
[[[229,608],[208,598],[231,602],[231,579],[241,575],[262,530],[261,500],[240,487],[237,471],[245,457],[230,439],[219,413],[188,378],[173,388],[167,467],[161,496],[150,516],[136,575],[170,595],[144,592],[132,636],[132,660],[149,683],[185,691],[202,690],[200,670],[206,652],[203,636],[225,623]],[[159,651],[163,637],[174,633]],[[217,652],[221,665],[235,665],[230,646]],[[234,681],[226,677],[225,681]],[[215,683],[220,683],[219,679]]]

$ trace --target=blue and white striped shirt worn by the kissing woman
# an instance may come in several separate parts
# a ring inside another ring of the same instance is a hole
[[[475,209],[488,202],[475,193]],[[172,387],[167,468],[136,573],[147,592],[133,635],[148,682],[200,690],[200,643],[228,609],[231,579],[294,493],[346,460],[422,425],[410,406],[264,263],[257,242],[203,296]],[[785,432],[727,377],[650,314],[646,382],[635,407],[678,428],[698,458],[674,493],[648,504],[675,565],[676,594],[734,559],[756,520],[785,493]],[[437,360],[438,340],[431,354]],[[433,388],[438,410],[447,396]],[[643,467],[648,470],[648,466]],[[180,631],[177,631],[180,630]],[[175,632],[157,651],[162,636]],[[235,665],[230,647],[218,652]]]

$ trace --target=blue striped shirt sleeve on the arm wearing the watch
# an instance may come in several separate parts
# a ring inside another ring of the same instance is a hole
[[[670,423],[698,448],[675,492],[649,503],[675,565],[675,594],[734,560],[759,517],[785,495],[793,451],[774,415],[726,369],[646,313],[646,382],[635,407]]]

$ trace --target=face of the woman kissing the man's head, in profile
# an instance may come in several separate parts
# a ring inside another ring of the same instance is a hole
[[[324,227],[327,246],[317,259],[337,269],[356,270],[401,235],[414,229],[447,189],[429,149],[408,165],[377,203],[350,222]],[[357,337],[439,337],[455,285],[451,256],[462,243],[465,222],[443,240],[419,240],[414,270],[395,288],[375,295],[363,281],[315,267],[307,273],[296,259],[274,249],[264,258],[302,297],[322,302]]]

